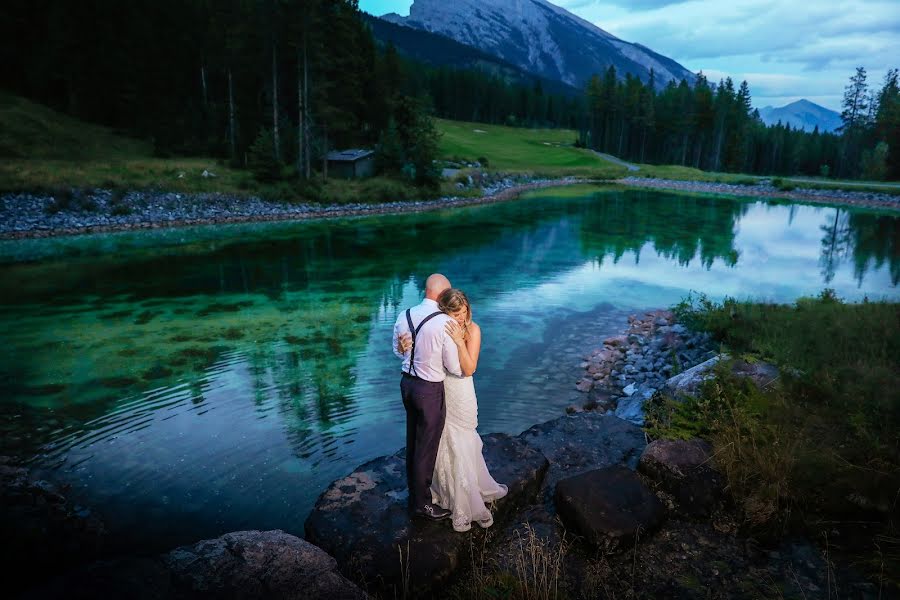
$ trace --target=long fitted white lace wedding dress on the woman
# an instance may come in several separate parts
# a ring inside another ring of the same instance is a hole
[[[499,500],[508,489],[494,481],[481,455],[474,380],[448,374],[444,396],[447,418],[431,481],[432,502],[453,512],[456,531],[469,531],[473,522],[490,527],[494,518],[485,504]]]

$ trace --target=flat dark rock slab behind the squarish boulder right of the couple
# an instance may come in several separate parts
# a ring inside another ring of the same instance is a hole
[[[647,445],[640,427],[595,412],[567,415],[535,425],[519,438],[550,461],[543,486],[547,500],[556,482],[563,477],[612,465],[637,468]]]

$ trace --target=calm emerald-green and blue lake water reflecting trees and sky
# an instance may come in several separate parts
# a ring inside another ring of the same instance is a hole
[[[580,400],[584,351],[690,291],[900,298],[900,219],[565,188],[319,223],[0,243],[0,452],[164,549],[303,521],[403,444],[399,312],[447,274],[484,330],[480,431]]]

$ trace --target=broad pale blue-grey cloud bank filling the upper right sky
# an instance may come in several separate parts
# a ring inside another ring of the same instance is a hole
[[[900,11],[892,2],[853,0],[840,7],[807,2],[801,9],[792,0],[627,5],[632,8],[623,10],[626,3],[608,0],[576,10],[614,35],[678,61],[759,54],[809,69],[854,60],[886,69],[897,56],[879,51],[897,46]]]

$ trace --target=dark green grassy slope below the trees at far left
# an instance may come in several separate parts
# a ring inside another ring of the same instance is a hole
[[[0,92],[0,158],[97,160],[149,157],[149,143]]]

